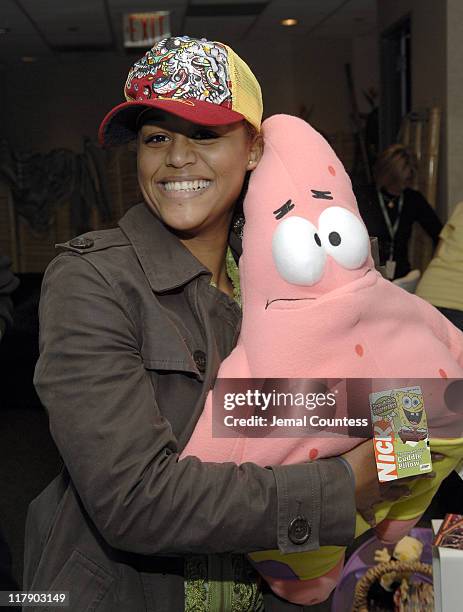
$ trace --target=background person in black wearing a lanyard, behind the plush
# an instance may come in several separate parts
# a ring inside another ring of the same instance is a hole
[[[401,144],[385,149],[373,168],[374,184],[355,189],[360,214],[379,244],[380,263],[391,280],[410,272],[408,243],[417,222],[437,245],[442,223],[426,198],[411,189],[417,172],[413,153]]]

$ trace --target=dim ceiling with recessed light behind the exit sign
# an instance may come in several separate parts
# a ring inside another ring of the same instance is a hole
[[[122,16],[171,11],[171,32],[237,42],[351,38],[376,27],[376,0],[1,0],[0,65],[126,51]],[[294,17],[298,25],[280,25]],[[137,50],[139,53],[139,50]]]

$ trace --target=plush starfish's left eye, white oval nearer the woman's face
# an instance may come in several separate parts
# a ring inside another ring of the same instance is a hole
[[[302,217],[288,217],[278,225],[272,254],[279,274],[293,285],[314,285],[323,274],[326,253],[317,228]]]

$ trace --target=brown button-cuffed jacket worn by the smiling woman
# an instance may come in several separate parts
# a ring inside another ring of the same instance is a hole
[[[175,612],[181,555],[348,544],[336,459],[178,460],[240,311],[144,205],[119,226],[63,245],[44,278],[35,384],[65,469],[30,506],[24,588],[69,590],[73,612]]]

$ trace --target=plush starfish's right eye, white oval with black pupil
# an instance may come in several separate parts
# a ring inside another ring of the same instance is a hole
[[[353,213],[340,206],[330,206],[318,220],[320,238],[328,255],[348,270],[360,268],[368,257],[368,232]]]

